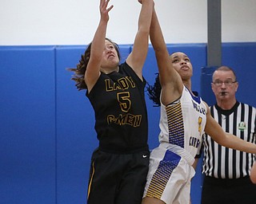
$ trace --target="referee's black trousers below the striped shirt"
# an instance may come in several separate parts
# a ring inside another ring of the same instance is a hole
[[[202,204],[255,204],[256,185],[249,176],[241,179],[214,179],[205,176]]]

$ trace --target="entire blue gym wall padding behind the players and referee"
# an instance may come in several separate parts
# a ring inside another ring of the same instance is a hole
[[[86,92],[78,92],[66,70],[78,64],[85,49],[86,45],[0,46],[1,204],[86,203],[90,155],[98,145],[94,112]],[[122,61],[131,49],[120,45]],[[171,44],[168,50],[188,54],[194,67],[192,87],[203,93],[210,86],[207,80],[202,84],[206,44]],[[254,42],[223,44],[223,65],[238,73],[238,96],[254,106],[255,53]],[[154,73],[158,69],[150,46],[143,70],[150,84]],[[158,146],[159,107],[145,94],[152,149]],[[195,204],[201,200],[200,168],[192,181]]]

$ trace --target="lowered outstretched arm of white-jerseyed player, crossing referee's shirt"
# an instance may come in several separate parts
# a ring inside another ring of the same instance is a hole
[[[235,135],[226,133],[222,127],[210,115],[210,109],[207,108],[206,113],[206,134],[210,135],[214,141],[224,147],[229,147],[238,151],[245,151],[248,153],[256,154],[256,145],[254,143],[246,142]]]

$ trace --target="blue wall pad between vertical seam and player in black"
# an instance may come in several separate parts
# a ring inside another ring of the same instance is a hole
[[[85,46],[56,48],[56,128],[58,203],[86,203],[90,151],[97,145],[94,113],[66,68],[75,68]]]

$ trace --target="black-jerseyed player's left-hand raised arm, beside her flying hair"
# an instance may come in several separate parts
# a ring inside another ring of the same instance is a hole
[[[85,81],[89,91],[94,86],[100,75],[102,53],[105,48],[106,27],[110,19],[109,12],[114,7],[112,5],[107,8],[109,2],[110,0],[100,0],[99,10],[101,18],[91,44],[90,60],[85,73]]]

